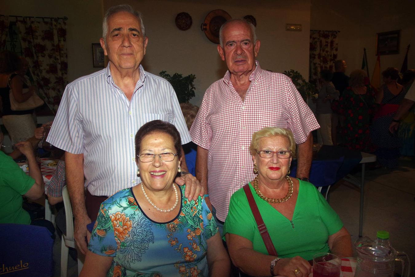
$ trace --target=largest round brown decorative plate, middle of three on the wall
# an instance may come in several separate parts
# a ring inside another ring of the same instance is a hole
[[[211,42],[219,44],[220,27],[231,18],[224,10],[212,10],[206,15],[205,21],[200,25],[200,28]]]

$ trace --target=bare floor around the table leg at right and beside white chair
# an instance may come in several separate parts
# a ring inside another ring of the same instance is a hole
[[[355,174],[360,177],[360,173]],[[360,189],[339,181],[330,189],[330,205],[339,214],[354,242],[359,237]],[[415,276],[415,159],[400,160],[395,170],[366,170],[363,235],[376,237],[377,230],[390,233],[391,244],[410,256]],[[60,276],[61,241],[54,245],[55,276]],[[69,257],[68,276],[77,276],[76,262]]]

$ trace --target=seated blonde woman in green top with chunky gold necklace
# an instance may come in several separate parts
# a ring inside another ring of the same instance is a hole
[[[288,129],[255,132],[249,148],[258,174],[249,188],[278,257],[268,254],[243,189],[232,195],[224,233],[232,262],[251,276],[308,276],[319,252],[352,256],[349,232],[315,186],[288,176],[295,153]],[[271,266],[271,272],[270,272]]]

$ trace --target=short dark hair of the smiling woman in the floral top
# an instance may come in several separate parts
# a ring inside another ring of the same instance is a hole
[[[180,133],[173,124],[170,124],[162,120],[153,120],[153,121],[147,122],[146,124],[141,126],[141,128],[137,131],[137,134],[135,135],[135,157],[136,159],[138,158],[138,155],[140,153],[140,147],[141,147],[141,142],[143,138],[146,135],[150,135],[156,132],[165,133],[171,136],[171,138],[173,139],[174,148],[176,148],[177,157],[181,159],[182,152],[181,152]]]

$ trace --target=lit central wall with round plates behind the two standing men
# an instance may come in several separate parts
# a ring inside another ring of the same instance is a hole
[[[257,37],[261,40],[258,60],[263,69],[282,72],[296,69],[308,76],[308,48],[310,29],[310,1],[295,3],[284,0],[240,1],[173,1],[173,0],[104,0],[105,10],[128,3],[144,15],[146,35],[149,37],[144,69],[159,74],[195,74],[196,96],[190,102],[200,105],[208,86],[223,77],[226,65],[200,30],[200,24],[211,10],[222,9],[232,18],[253,15],[257,22]],[[193,25],[179,30],[174,19],[179,12],[188,12]],[[286,23],[303,25],[302,32],[285,31]]]

